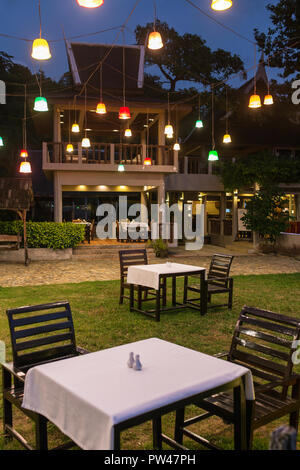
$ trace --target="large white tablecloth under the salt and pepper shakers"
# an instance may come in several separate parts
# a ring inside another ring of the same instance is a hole
[[[127,367],[140,354],[141,371]],[[23,407],[52,421],[86,450],[113,448],[114,424],[246,376],[251,372],[212,356],[151,338],[33,367]]]

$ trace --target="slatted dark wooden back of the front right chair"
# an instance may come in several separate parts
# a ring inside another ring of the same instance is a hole
[[[300,319],[244,306],[228,360],[250,369],[258,383],[282,381],[292,373],[294,342],[299,339]]]

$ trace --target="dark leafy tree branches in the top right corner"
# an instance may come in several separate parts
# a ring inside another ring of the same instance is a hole
[[[260,48],[270,56],[271,67],[283,69],[286,78],[300,70],[300,1],[279,0],[268,4],[273,27],[267,33],[255,29]]]

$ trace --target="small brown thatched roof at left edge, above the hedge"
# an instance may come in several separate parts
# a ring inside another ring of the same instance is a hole
[[[31,178],[0,178],[0,209],[28,210],[32,201]]]

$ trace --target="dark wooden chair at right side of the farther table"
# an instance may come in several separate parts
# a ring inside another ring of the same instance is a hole
[[[233,278],[229,277],[231,264],[233,261],[234,256],[232,255],[221,255],[215,254],[212,257],[207,280],[207,300],[210,303],[211,297],[213,294],[224,294],[228,293],[228,303],[226,304],[218,304],[218,305],[208,305],[208,308],[215,308],[215,307],[228,307],[230,310],[232,309],[232,300],[233,300]],[[192,276],[190,276],[192,278]],[[184,283],[184,296],[185,301],[188,303],[197,306],[195,303],[199,301],[200,298],[188,298],[188,292],[195,292],[200,294],[199,286],[195,285],[188,285],[188,278],[185,278]]]

